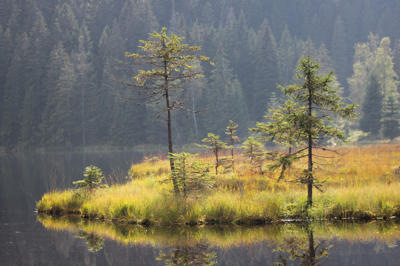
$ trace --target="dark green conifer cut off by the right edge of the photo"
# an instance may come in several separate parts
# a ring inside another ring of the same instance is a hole
[[[384,138],[393,140],[400,136],[399,110],[398,99],[392,95],[385,99],[382,120],[380,121],[382,124],[380,131]]]

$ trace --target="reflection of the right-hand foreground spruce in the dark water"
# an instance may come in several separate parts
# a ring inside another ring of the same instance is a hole
[[[286,255],[286,258],[279,255],[281,262],[275,262],[274,266],[287,266],[288,260],[299,262],[299,264],[297,264],[299,266],[321,266],[328,260],[328,250],[333,245],[325,246],[324,243],[326,240],[322,240],[319,244],[315,245],[312,229],[306,228],[305,231],[308,234],[308,245],[306,243],[294,242],[275,248],[274,252],[289,252],[289,254]]]

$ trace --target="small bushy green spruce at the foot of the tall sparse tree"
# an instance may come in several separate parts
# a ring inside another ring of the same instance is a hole
[[[202,162],[202,160],[193,161],[192,158],[198,154],[190,154],[181,152],[179,154],[170,154],[168,158],[174,160],[174,171],[166,174],[164,180],[158,181],[159,183],[172,183],[178,186],[179,196],[186,198],[188,196],[199,197],[209,188],[212,188],[210,167],[212,163]],[[170,192],[174,192],[170,191]]]

